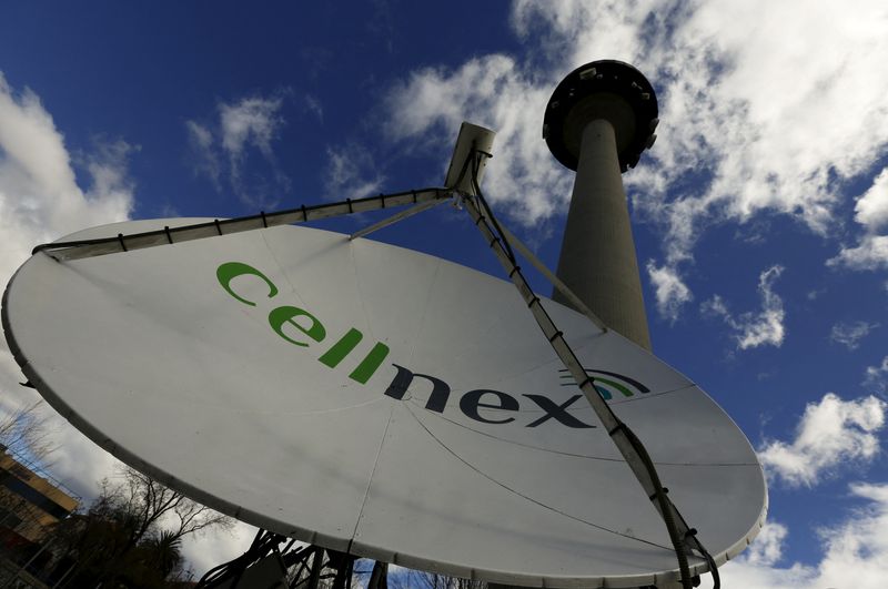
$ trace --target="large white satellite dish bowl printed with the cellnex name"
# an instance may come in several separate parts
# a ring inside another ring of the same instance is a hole
[[[766,509],[741,431],[649,353],[545,305],[716,562],[738,554]],[[37,253],[2,319],[24,374],[79,429],[255,526],[497,582],[676,578],[659,514],[504,281],[279,226],[64,262]]]

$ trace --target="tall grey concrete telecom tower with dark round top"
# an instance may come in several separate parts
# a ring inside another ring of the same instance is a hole
[[[593,61],[553,92],[543,138],[576,171],[557,276],[602,321],[650,349],[638,262],[620,174],[654,144],[657,98],[622,61]],[[571,306],[557,290],[553,298]]]

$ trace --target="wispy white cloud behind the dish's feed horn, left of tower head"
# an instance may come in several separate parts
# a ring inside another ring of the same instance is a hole
[[[542,139],[553,89],[551,80],[541,84],[533,72],[502,54],[472,59],[453,71],[428,68],[391,92],[385,129],[393,140],[437,148],[442,177],[464,120],[496,131],[485,195],[507,204],[505,210],[514,219],[533,225],[552,216],[571,196],[572,176]]]

